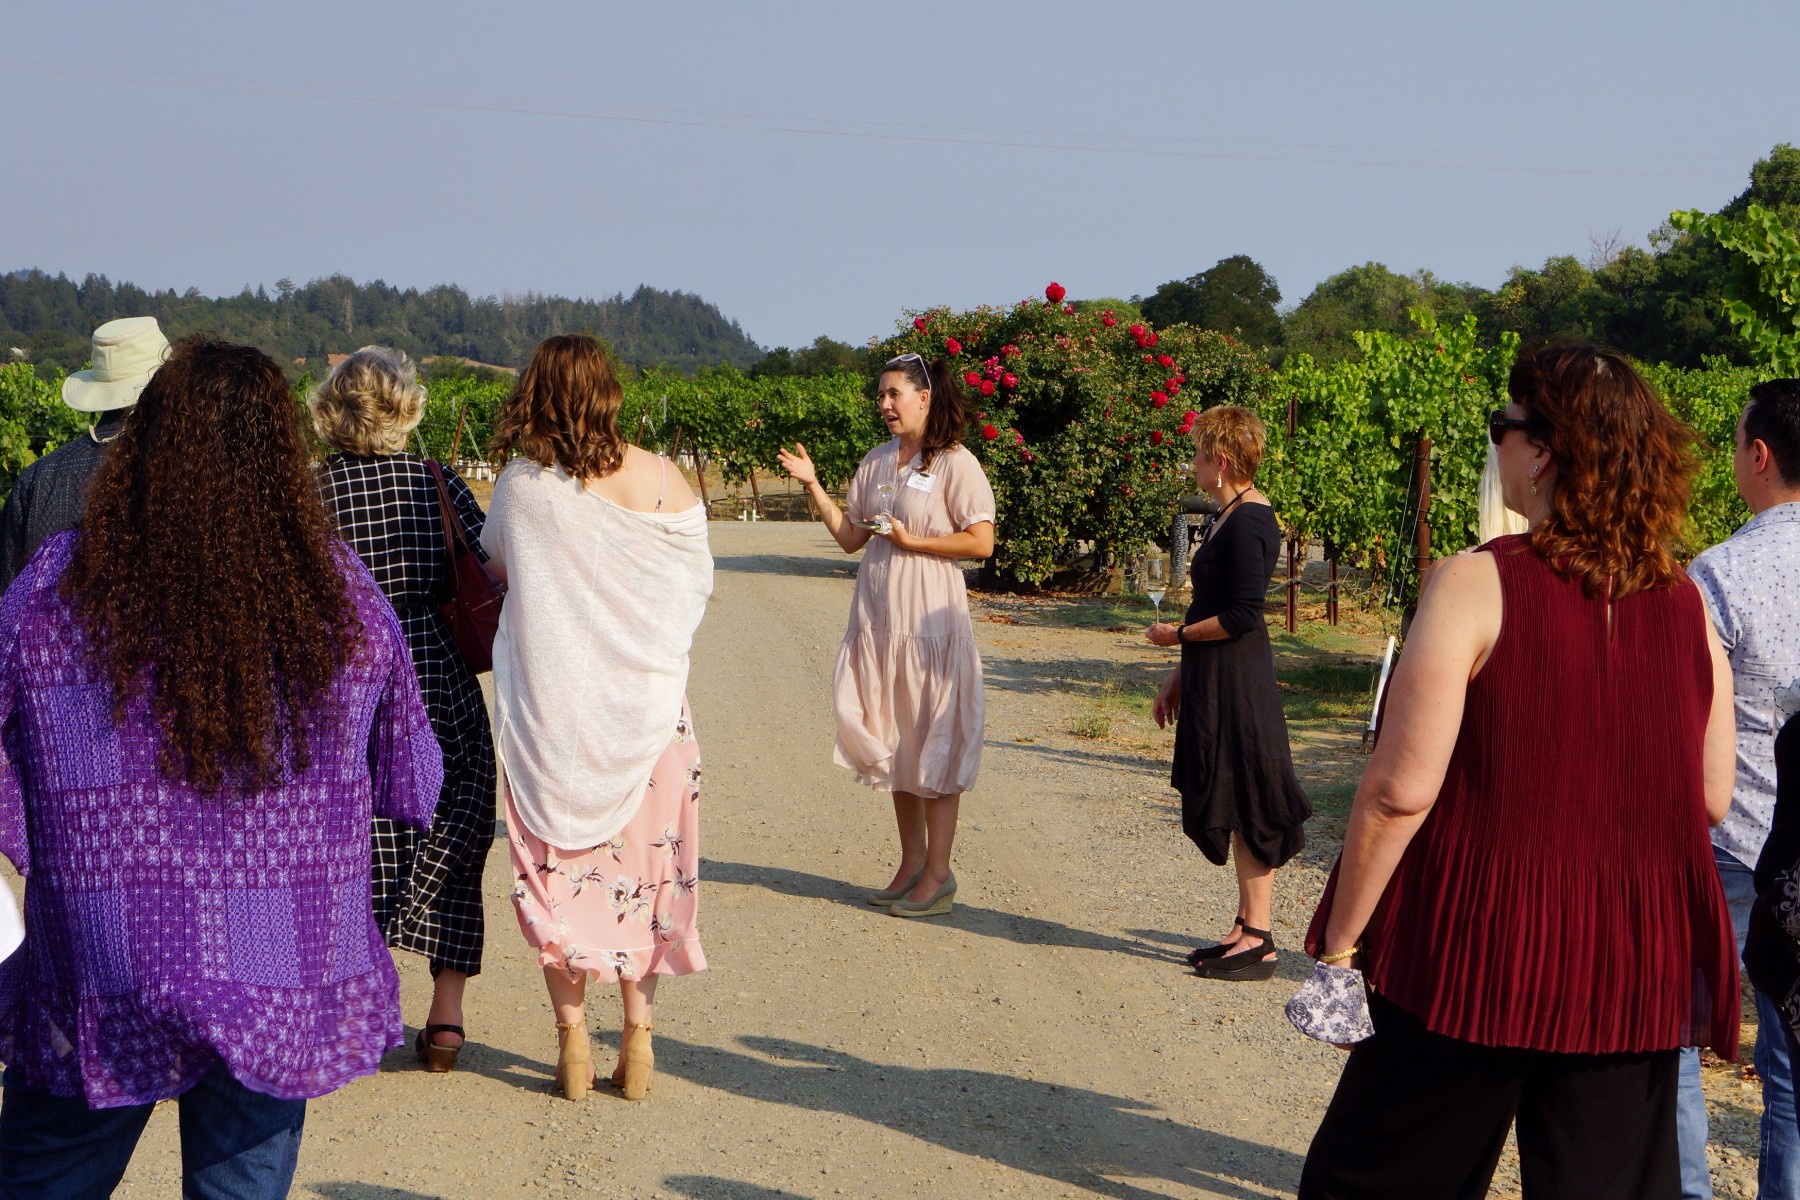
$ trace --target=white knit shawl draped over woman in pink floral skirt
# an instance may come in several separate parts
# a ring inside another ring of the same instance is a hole
[[[513,459],[481,542],[506,570],[493,736],[513,808],[549,846],[599,846],[637,813],[680,718],[713,594],[706,509],[637,513]]]

